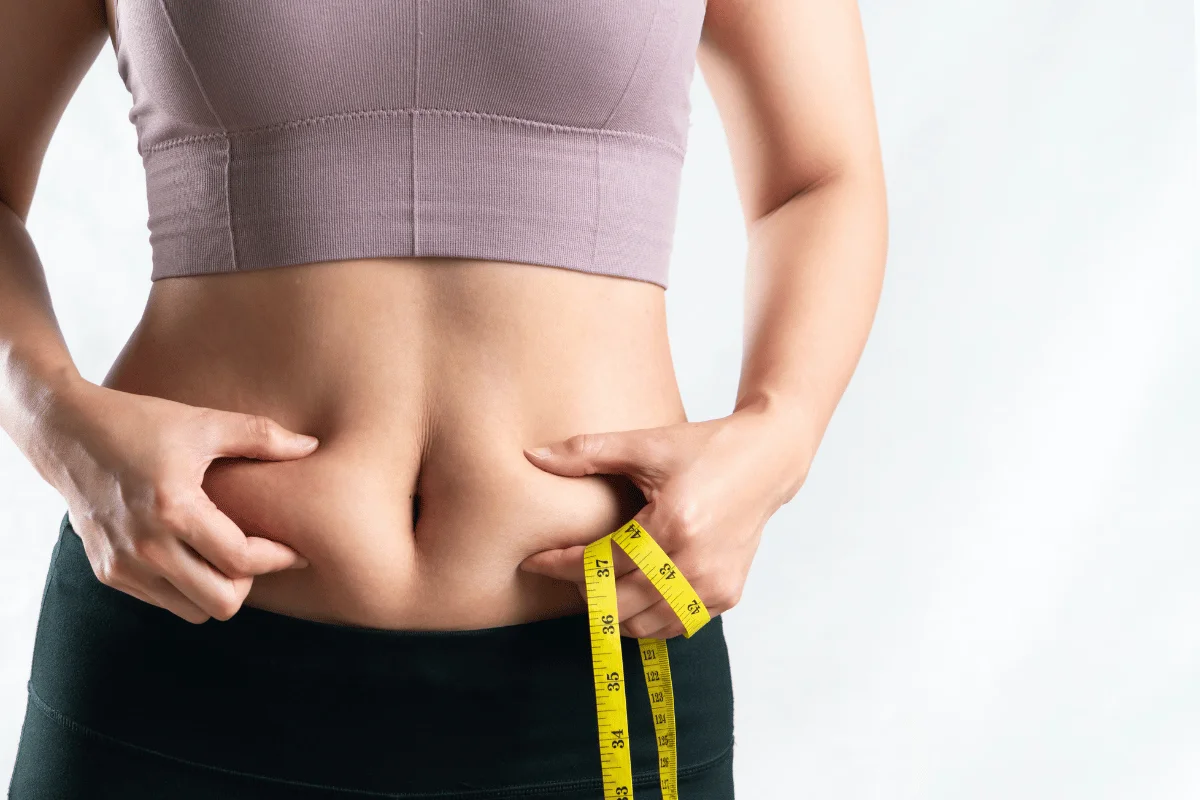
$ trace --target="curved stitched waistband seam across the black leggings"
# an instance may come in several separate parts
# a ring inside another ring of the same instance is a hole
[[[61,726],[62,728],[66,728],[67,730],[71,730],[77,735],[85,736],[89,739],[95,739],[97,741],[102,741],[119,747],[126,747],[128,750],[145,753],[148,756],[155,756],[157,758],[164,758],[167,760],[179,762],[181,764],[187,764],[188,766],[193,766],[197,769],[211,770],[224,775],[235,775],[238,777],[252,778],[266,783],[281,783],[286,786],[304,787],[310,789],[326,789],[344,794],[359,795],[364,798],[389,798],[391,800],[437,800],[438,798],[446,798],[446,800],[462,800],[466,798],[475,798],[478,800],[500,800],[504,798],[550,794],[557,792],[566,792],[571,789],[584,789],[593,787],[600,788],[601,784],[601,781],[595,778],[582,778],[582,780],[570,780],[570,781],[544,781],[540,783],[502,786],[502,787],[485,788],[485,789],[449,789],[444,792],[434,790],[434,792],[397,793],[397,792],[377,792],[374,789],[355,789],[353,787],[329,786],[310,781],[296,781],[292,778],[274,777],[270,775],[259,775],[257,772],[247,772],[244,770],[232,770],[224,766],[217,766],[215,764],[205,764],[203,762],[193,762],[191,759],[182,758],[180,756],[164,753],[154,750],[151,747],[144,747],[142,745],[133,744],[132,741],[126,741],[118,736],[112,736],[109,734],[101,733],[100,730],[96,730],[80,722],[77,722],[72,717],[67,716],[66,714],[64,714],[62,711],[58,710],[48,702],[46,702],[46,699],[42,698],[42,696],[34,690],[32,680],[30,680],[26,684],[26,691],[29,692],[29,698],[32,700],[34,705],[37,708],[38,711],[41,711],[52,722]],[[718,764],[730,758],[733,751],[733,746],[734,741],[731,740],[730,744],[724,750],[721,750],[721,752],[718,753],[716,756],[712,756],[702,762],[697,762],[688,766],[679,766],[677,770],[677,776],[686,777],[698,772],[703,772],[704,770],[716,766]],[[635,787],[642,786],[644,788],[647,786],[658,786],[659,782],[658,770],[653,772],[635,774],[632,777]]]

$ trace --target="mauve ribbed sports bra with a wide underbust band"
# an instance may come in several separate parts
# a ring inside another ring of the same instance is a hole
[[[151,281],[371,257],[667,287],[706,0],[120,0]]]

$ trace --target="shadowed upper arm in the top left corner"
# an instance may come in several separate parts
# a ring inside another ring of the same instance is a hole
[[[0,201],[25,219],[62,112],[109,36],[104,0],[0,0]]]

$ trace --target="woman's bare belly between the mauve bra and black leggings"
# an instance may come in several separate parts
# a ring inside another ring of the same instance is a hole
[[[203,488],[310,561],[257,577],[247,606],[389,628],[582,610],[574,584],[517,565],[644,499],[624,476],[551,475],[522,447],[685,419],[661,288],[457,259],[158,281],[104,385],[318,437],[296,461],[217,459]]]

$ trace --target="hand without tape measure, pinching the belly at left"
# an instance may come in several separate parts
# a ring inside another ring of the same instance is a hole
[[[200,485],[215,458],[301,458],[317,439],[266,416],[199,408],[88,381],[38,417],[43,476],[104,584],[190,622],[233,616],[254,576],[306,567],[290,547],[247,536]],[[46,474],[50,473],[50,474]]]

